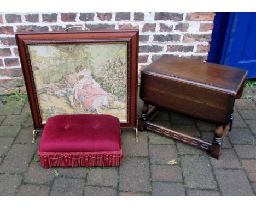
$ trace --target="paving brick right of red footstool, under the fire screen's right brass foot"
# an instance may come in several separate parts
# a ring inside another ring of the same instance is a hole
[[[138,132],[138,142],[133,130],[123,130],[122,148],[124,156],[148,156],[148,139],[147,132]]]

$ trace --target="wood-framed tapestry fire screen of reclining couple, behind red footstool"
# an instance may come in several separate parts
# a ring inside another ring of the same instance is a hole
[[[35,129],[59,114],[136,127],[138,31],[15,34]]]

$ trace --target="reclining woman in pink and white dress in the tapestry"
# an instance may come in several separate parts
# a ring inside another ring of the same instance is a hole
[[[81,70],[80,76],[83,78],[74,85],[75,99],[79,100],[86,111],[96,111],[97,114],[101,114],[101,109],[109,106],[110,97],[107,91],[90,76],[88,69]]]

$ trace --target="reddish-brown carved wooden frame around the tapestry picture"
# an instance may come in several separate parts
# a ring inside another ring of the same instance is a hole
[[[93,45],[126,44],[126,119],[120,120],[123,128],[136,127],[137,114],[137,66],[138,66],[138,30],[106,30],[90,32],[46,32],[15,34],[22,71],[27,88],[28,99],[34,122],[34,129],[43,129],[44,122],[39,105],[37,83],[34,77],[34,65],[31,63],[30,48],[49,45]],[[123,62],[121,62],[123,63]],[[118,102],[118,101],[117,101]],[[102,108],[103,109],[103,108]],[[98,112],[97,112],[98,113]]]

